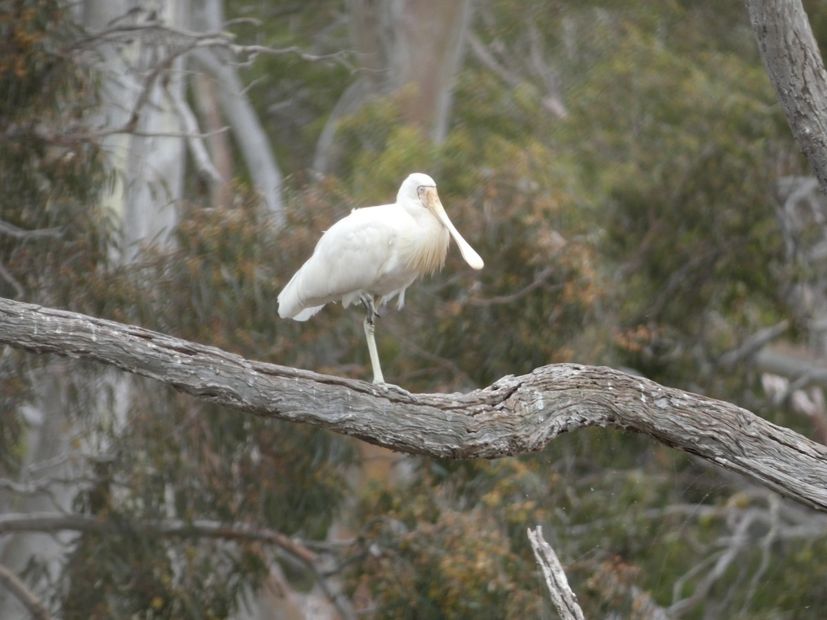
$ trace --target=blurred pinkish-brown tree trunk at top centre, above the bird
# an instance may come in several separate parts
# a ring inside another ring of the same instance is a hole
[[[447,136],[452,89],[471,22],[471,0],[348,0],[351,43],[365,69],[319,136],[313,169],[329,172],[336,125],[371,98],[399,92],[405,122],[433,141]]]

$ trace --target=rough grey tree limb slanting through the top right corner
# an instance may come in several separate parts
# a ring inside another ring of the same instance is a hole
[[[801,151],[827,194],[827,71],[801,0],[746,0],[758,48]]]

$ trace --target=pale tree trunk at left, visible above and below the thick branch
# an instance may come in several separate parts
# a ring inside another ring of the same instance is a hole
[[[189,0],[86,0],[74,7],[74,15],[90,32],[101,31],[118,20],[141,19],[155,11],[155,18],[171,26],[185,26]],[[133,17],[133,8],[141,8]],[[121,246],[112,256],[116,261],[135,260],[141,245],[170,243],[170,231],[177,222],[176,204],[181,198],[186,163],[182,138],[184,126],[174,101],[184,97],[184,59],[177,57],[152,77],[164,64],[169,49],[164,42],[147,44],[141,36],[130,43],[102,44],[95,48],[103,77],[101,106],[93,111],[92,131],[103,131],[100,138],[108,155],[108,168],[114,182],[102,196],[104,207],[112,212],[121,230]],[[135,133],[107,133],[133,121]],[[136,135],[140,134],[140,135]],[[159,135],[160,134],[160,135]],[[112,394],[112,401],[92,403],[81,422],[66,415],[69,393],[84,392],[88,375],[77,372],[74,364],[53,362],[32,379],[35,394],[19,413],[26,421],[27,450],[19,483],[47,493],[12,494],[0,497],[0,512],[32,513],[44,509],[71,512],[81,483],[57,484],[55,480],[88,477],[84,453],[105,456],[105,438],[93,431],[103,416],[114,416],[112,428],[126,422],[131,400],[132,379],[122,373],[104,374],[98,385],[101,394]],[[83,382],[73,388],[74,382]],[[88,426],[86,426],[88,425]],[[102,452],[103,451],[103,452]],[[75,535],[58,536],[15,532],[0,542],[0,565],[19,574],[36,557],[45,561],[49,579],[60,574],[64,555]],[[33,585],[34,594],[46,599],[49,579]],[[20,603],[0,598],[0,618],[22,618]]]

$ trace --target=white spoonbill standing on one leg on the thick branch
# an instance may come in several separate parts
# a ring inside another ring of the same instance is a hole
[[[279,316],[307,321],[326,303],[341,299],[347,308],[360,301],[373,382],[385,383],[374,336],[376,306],[399,296],[402,308],[405,289],[418,276],[442,269],[449,234],[468,265],[482,269],[480,255],[448,219],[437,184],[428,174],[411,174],[396,203],[354,209],[323,234],[279,294]]]

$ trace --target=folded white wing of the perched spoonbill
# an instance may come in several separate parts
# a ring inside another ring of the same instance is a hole
[[[307,320],[324,304],[352,303],[392,269],[399,235],[413,225],[395,205],[356,209],[327,229],[279,295],[281,317]]]

